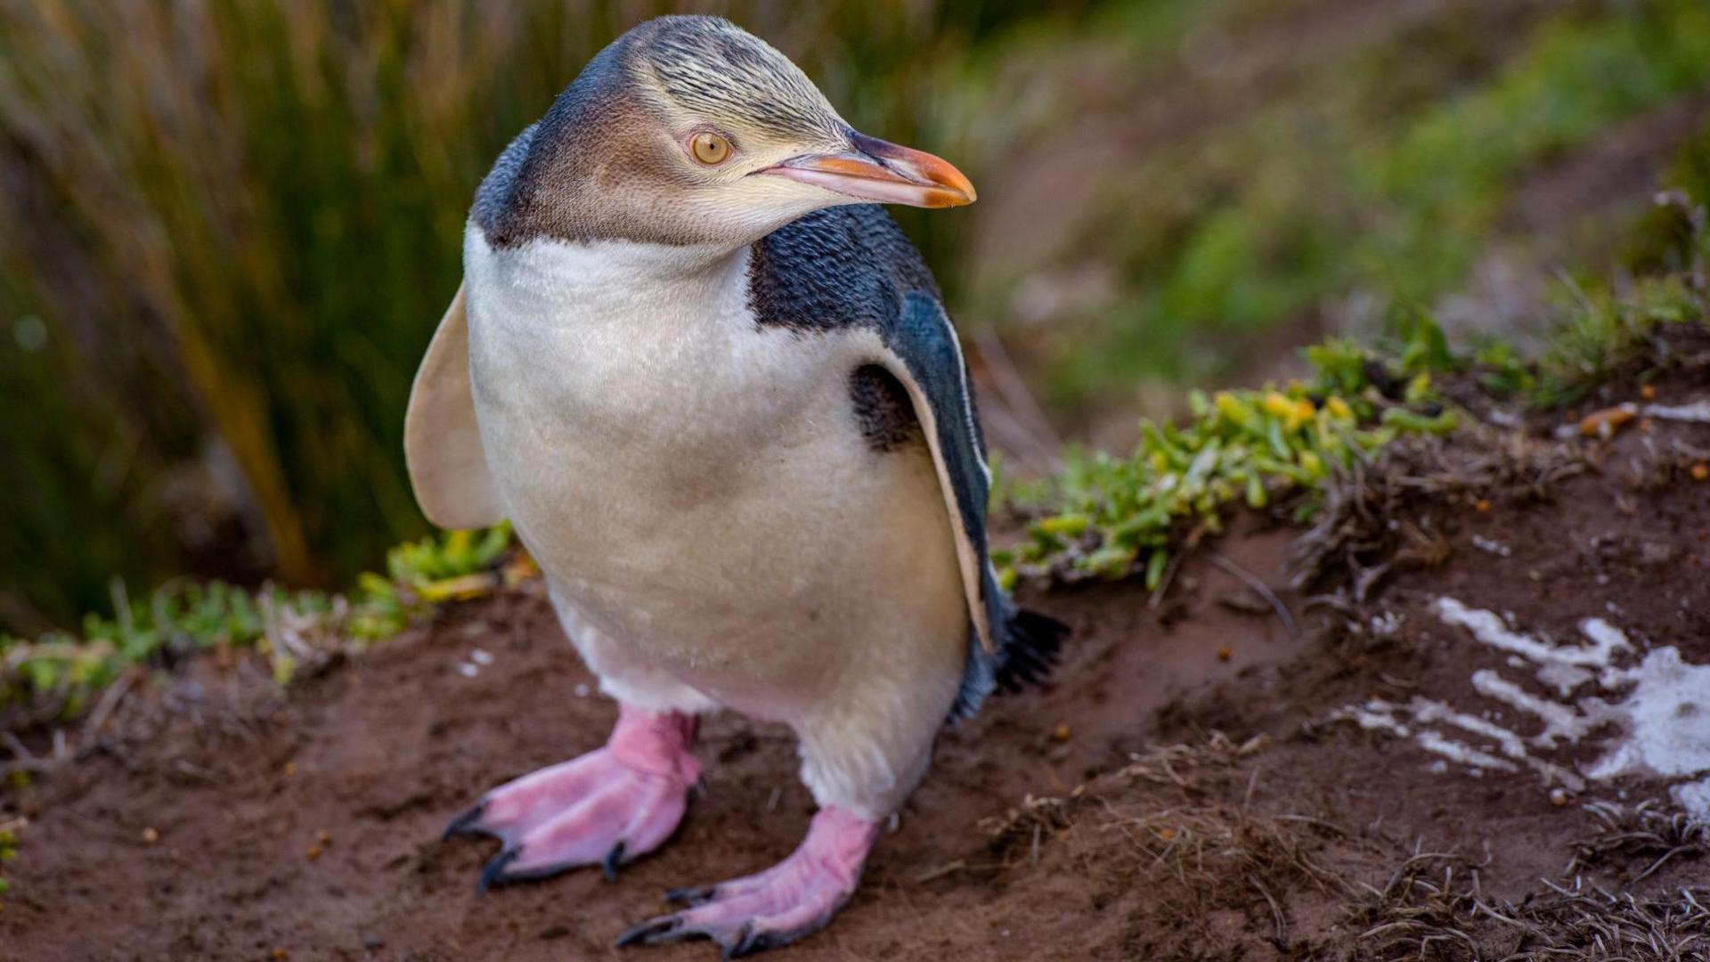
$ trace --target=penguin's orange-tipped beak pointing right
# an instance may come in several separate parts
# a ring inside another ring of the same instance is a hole
[[[850,149],[802,154],[756,173],[812,183],[845,197],[910,207],[961,207],[978,197],[949,161],[865,134],[850,134]]]

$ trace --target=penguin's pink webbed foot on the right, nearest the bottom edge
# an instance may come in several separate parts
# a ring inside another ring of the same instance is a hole
[[[617,945],[710,938],[725,959],[788,945],[823,928],[855,894],[877,837],[879,823],[823,808],[790,858],[759,875],[665,894],[687,907],[631,928]]]

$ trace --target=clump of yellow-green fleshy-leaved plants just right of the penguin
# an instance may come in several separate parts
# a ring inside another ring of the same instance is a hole
[[[1183,425],[1142,419],[1129,457],[1070,452],[1043,498],[1017,502],[1036,517],[1026,541],[994,551],[1000,579],[1144,572],[1156,589],[1171,553],[1219,531],[1224,508],[1294,498],[1294,514],[1310,515],[1336,472],[1399,435],[1455,426],[1431,392],[1431,371],[1452,368],[1454,358],[1424,315],[1392,359],[1347,339],[1310,347],[1306,358],[1317,370],[1310,383],[1190,392],[1192,416]]]

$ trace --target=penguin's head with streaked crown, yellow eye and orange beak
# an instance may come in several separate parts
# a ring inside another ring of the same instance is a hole
[[[499,243],[735,248],[821,207],[975,200],[947,161],[855,132],[790,58],[701,15],[646,21],[600,51],[501,187],[482,224]]]

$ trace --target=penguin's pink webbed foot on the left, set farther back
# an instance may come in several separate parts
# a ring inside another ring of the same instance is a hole
[[[694,717],[621,705],[605,748],[489,791],[445,837],[494,835],[504,847],[477,888],[544,878],[585,864],[617,868],[665,842],[701,765],[689,753]]]

